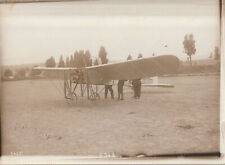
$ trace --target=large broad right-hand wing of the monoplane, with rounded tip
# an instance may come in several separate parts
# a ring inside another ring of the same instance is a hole
[[[141,58],[126,62],[86,68],[88,83],[104,84],[110,80],[132,80],[176,73],[179,59],[173,55]]]

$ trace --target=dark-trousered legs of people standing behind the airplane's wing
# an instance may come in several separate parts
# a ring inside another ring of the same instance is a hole
[[[119,80],[118,81],[118,100],[123,100],[123,86],[124,86],[124,82],[127,80]],[[114,93],[113,93],[113,89],[112,89],[112,85],[113,85],[113,81],[110,81],[109,83],[107,83],[105,85],[105,98],[107,98],[108,95],[108,91],[111,94],[111,98],[114,99]],[[141,79],[135,79],[132,80],[132,87],[134,90],[134,98],[135,99],[139,99],[141,97]]]

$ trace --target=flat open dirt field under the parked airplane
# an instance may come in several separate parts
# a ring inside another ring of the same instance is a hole
[[[219,76],[159,82],[175,87],[142,87],[139,100],[126,87],[123,101],[78,103],[64,100],[57,81],[3,82],[3,155],[219,152]]]

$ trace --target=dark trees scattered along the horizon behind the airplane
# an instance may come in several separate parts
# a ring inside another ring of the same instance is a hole
[[[190,66],[192,66],[192,56],[196,53],[195,47],[195,39],[193,34],[186,34],[184,36],[183,41],[184,53],[188,56],[188,61],[190,61]],[[155,56],[153,53],[152,56]],[[141,58],[142,54],[138,55],[138,58]],[[220,49],[218,46],[214,47],[214,52],[210,53],[209,58],[213,58],[219,62],[220,60]],[[128,55],[127,60],[132,60],[132,56]],[[75,51],[73,55],[67,56],[63,58],[63,55],[60,56],[59,62],[56,63],[55,58],[51,56],[45,62],[46,67],[88,67],[92,65],[99,65],[99,64],[107,64],[108,63],[107,52],[104,46],[101,46],[98,52],[98,57],[93,60],[91,53],[89,50],[79,50]],[[39,75],[41,72],[39,70],[30,70],[27,68],[20,68],[15,70],[14,72],[7,68],[2,72],[2,78],[4,77],[15,77],[16,79],[23,79],[27,77],[26,75]]]

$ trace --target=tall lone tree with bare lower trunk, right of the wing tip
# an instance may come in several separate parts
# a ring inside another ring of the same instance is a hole
[[[184,51],[189,56],[190,65],[192,66],[191,56],[195,54],[196,48],[195,48],[195,40],[193,34],[185,35],[184,36]]]

